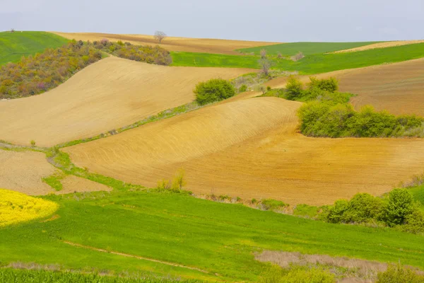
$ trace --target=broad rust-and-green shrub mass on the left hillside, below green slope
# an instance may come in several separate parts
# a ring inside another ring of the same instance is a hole
[[[102,54],[83,42],[72,41],[63,47],[47,49],[18,63],[0,67],[0,98],[20,98],[43,93],[69,79]]]

